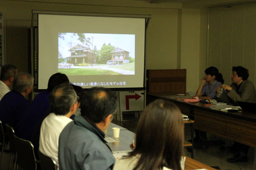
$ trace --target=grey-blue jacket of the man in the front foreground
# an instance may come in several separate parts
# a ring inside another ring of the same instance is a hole
[[[60,133],[59,169],[113,169],[115,158],[104,133],[77,115]]]

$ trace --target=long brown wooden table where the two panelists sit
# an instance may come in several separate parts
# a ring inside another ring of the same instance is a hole
[[[256,113],[212,110],[200,102],[186,103],[171,99],[169,96],[172,95],[172,93],[147,93],[146,99],[147,103],[159,98],[170,100],[183,114],[194,117],[195,129],[256,148]]]

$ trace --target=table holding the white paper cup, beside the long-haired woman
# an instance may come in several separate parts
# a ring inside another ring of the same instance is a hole
[[[113,131],[112,131],[113,127],[120,127],[120,126],[111,123],[110,127],[108,128],[108,132],[107,132],[107,134],[109,136],[113,136]],[[119,138],[116,138],[116,139],[118,139],[119,141],[108,143],[108,145],[112,151],[114,151],[114,152],[115,151],[132,151],[130,144],[135,139],[135,133],[133,133],[125,128],[122,128],[122,129],[120,129]],[[192,158],[186,157],[185,169],[202,169],[202,168],[214,170],[214,168],[212,168],[208,165],[205,165],[205,164],[203,164],[199,161],[196,161]]]

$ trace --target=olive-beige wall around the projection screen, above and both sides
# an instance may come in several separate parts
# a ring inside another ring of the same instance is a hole
[[[182,9],[180,3],[150,4],[131,0],[0,1],[0,12],[6,22],[6,61],[20,71],[29,70],[28,29],[32,9],[151,14],[146,33],[146,69],[187,68],[187,89],[198,88],[199,67],[205,67],[199,64],[199,56],[204,56],[200,53],[200,9]],[[196,75],[191,74],[194,68]]]

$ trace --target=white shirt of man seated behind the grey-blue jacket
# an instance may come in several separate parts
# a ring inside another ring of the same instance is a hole
[[[58,145],[59,135],[71,118],[50,113],[42,122],[39,139],[39,151],[49,156],[59,166]]]

